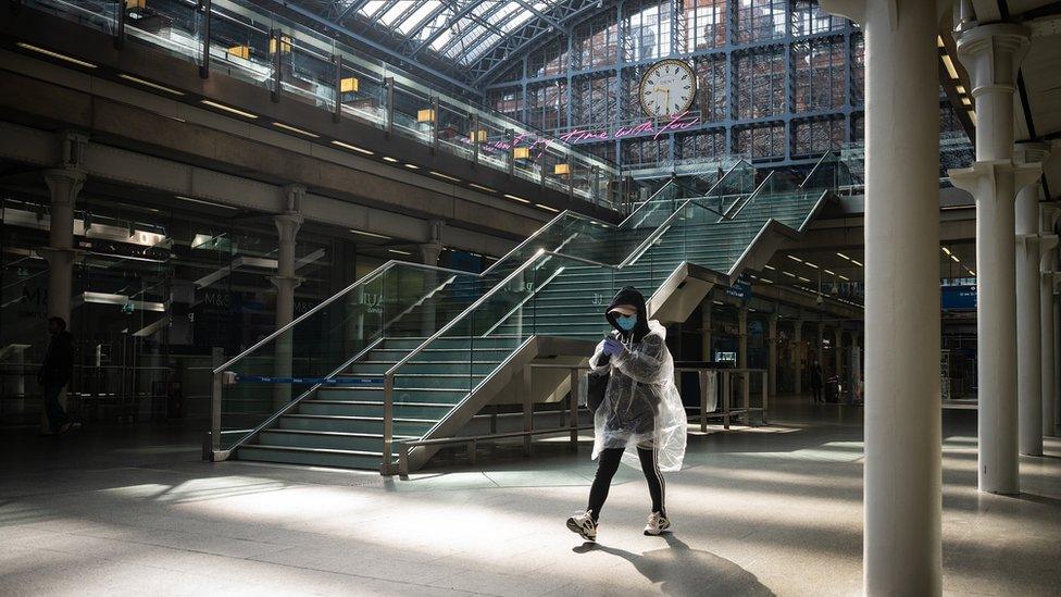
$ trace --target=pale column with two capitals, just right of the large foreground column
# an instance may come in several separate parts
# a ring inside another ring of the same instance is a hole
[[[950,177],[976,200],[976,334],[982,357],[976,470],[981,490],[993,494],[1020,493],[1014,197],[1018,188],[1035,179],[1032,173],[1037,169],[1014,165],[1012,160],[1013,89],[1027,46],[1027,29],[1006,23],[973,27],[958,40],[976,107],[976,162],[950,171]]]

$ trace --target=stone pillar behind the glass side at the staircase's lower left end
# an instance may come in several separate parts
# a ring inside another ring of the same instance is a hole
[[[295,239],[302,226],[299,203],[305,189],[300,186],[287,188],[287,210],[273,216],[277,233],[276,275],[270,282],[276,286],[276,329],[291,323],[295,319],[295,288],[302,278],[295,275]],[[276,377],[290,377],[292,374],[294,347],[292,331],[287,331],[274,341],[273,371]],[[276,384],[273,387],[273,408],[279,409],[291,401],[291,385]]]

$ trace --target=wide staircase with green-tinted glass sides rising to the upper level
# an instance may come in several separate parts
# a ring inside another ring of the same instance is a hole
[[[214,452],[388,471],[397,443],[459,432],[541,338],[588,356],[619,287],[651,308],[689,265],[732,284],[766,236],[806,227],[841,167],[827,154],[798,181],[738,162],[703,195],[669,183],[617,226],[565,212],[480,275],[390,262],[215,370]],[[412,468],[433,453],[413,448]]]

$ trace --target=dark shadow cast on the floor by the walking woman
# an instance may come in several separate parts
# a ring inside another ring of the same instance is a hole
[[[672,533],[664,534],[661,540],[667,547],[641,555],[596,543],[583,544],[573,551],[619,556],[653,584],[659,583],[664,595],[774,595],[754,574],[725,558],[692,549]]]

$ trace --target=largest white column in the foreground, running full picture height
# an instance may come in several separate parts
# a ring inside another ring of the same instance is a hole
[[[821,3],[865,33],[863,590],[939,595],[936,2]]]

